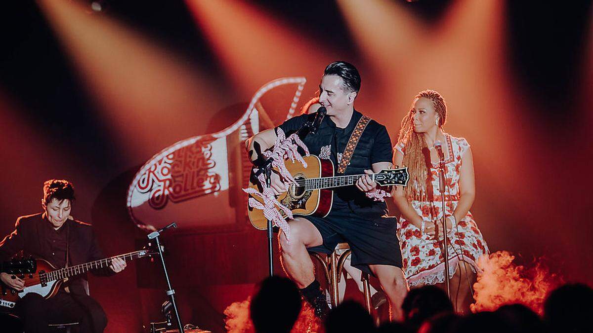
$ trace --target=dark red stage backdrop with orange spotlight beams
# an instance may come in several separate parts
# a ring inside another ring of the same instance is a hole
[[[66,178],[73,215],[93,223],[104,252],[131,251],[144,233],[126,191],[144,162],[233,123],[272,79],[307,77],[302,104],[342,59],[361,71],[357,108],[393,143],[418,91],[444,95],[446,130],[473,148],[471,210],[491,251],[593,283],[591,2],[138,0],[100,13],[89,3],[2,7],[0,233],[40,212],[43,181]],[[264,235],[248,222],[165,242],[185,322],[221,331],[222,310],[266,276]],[[161,275],[138,262],[91,280],[107,331],[161,319]]]

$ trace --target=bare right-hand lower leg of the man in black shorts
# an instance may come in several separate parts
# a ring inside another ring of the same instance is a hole
[[[377,276],[391,306],[391,320],[403,320],[401,303],[409,290],[404,272],[391,265],[369,265],[372,273]]]

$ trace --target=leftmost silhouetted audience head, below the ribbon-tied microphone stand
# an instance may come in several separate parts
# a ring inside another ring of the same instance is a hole
[[[249,315],[257,333],[288,333],[297,321],[301,305],[301,293],[294,282],[271,276],[260,283],[251,298]]]

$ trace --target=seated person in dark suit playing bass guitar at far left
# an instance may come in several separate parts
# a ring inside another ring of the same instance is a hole
[[[74,187],[66,180],[48,180],[43,184],[44,212],[17,219],[16,229],[0,242],[0,261],[17,252],[42,258],[56,268],[70,267],[103,258],[93,229],[71,216]],[[98,276],[122,271],[126,262],[113,258],[109,267],[93,270]],[[1,273],[2,290],[23,290],[24,280]],[[27,293],[18,300],[15,312],[23,318],[25,332],[46,332],[47,324],[79,322],[80,332],[103,332],[107,317],[101,305],[87,294],[84,276],[63,283],[55,296],[44,299]]]

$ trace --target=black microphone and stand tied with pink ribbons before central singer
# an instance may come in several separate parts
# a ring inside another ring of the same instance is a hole
[[[321,124],[321,120],[326,115],[327,110],[324,107],[320,107],[315,114],[315,117],[310,117],[302,127],[297,131],[297,135],[301,140],[304,140],[305,137],[311,133],[314,134],[317,132],[319,125]],[[255,179],[261,174],[264,175],[266,179],[266,187],[270,187],[272,185],[272,162],[274,160],[272,158],[266,159],[261,164],[257,165],[257,171],[254,174]],[[267,220],[267,260],[268,260],[268,273],[270,276],[274,275],[274,249],[272,245],[273,241],[273,226],[272,220]]]

